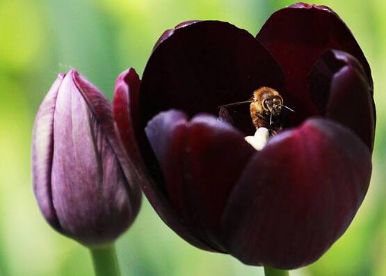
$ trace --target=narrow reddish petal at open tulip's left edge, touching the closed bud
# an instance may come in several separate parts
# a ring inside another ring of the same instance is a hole
[[[138,120],[138,96],[140,79],[135,70],[130,69],[123,72],[115,84],[115,93],[113,99],[113,118],[115,122],[115,131],[122,148],[125,149],[128,156],[126,163],[127,170],[130,172],[132,181],[141,184],[143,192],[147,196],[154,209],[167,225],[184,237],[189,243],[205,250],[213,250],[200,238],[197,238],[187,229],[172,209],[168,197],[163,193],[162,180],[152,178],[143,164],[143,159],[139,154],[136,133],[134,125]],[[154,179],[158,183],[154,182]],[[161,182],[161,184],[159,183]]]

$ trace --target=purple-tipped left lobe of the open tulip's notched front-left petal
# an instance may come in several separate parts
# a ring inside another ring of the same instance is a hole
[[[192,213],[192,206],[186,202],[188,194],[182,173],[188,135],[186,115],[179,111],[160,113],[149,122],[145,131],[163,171],[166,197],[177,213],[180,223],[202,243],[209,245],[211,251],[219,251],[205,236],[198,225],[197,215]]]

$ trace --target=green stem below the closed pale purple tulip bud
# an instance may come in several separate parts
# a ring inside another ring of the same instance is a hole
[[[95,276],[120,276],[120,268],[115,252],[115,245],[90,248],[93,258]]]

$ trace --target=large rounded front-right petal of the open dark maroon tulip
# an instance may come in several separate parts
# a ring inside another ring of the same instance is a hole
[[[292,269],[341,236],[367,193],[369,150],[331,120],[307,120],[255,154],[223,214],[227,251],[244,263]]]

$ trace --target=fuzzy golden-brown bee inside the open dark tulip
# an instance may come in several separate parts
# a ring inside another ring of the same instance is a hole
[[[227,108],[240,104],[250,104],[250,117],[256,129],[265,127],[273,135],[282,129],[283,108],[295,112],[288,106],[284,106],[284,100],[278,91],[264,86],[253,91],[253,95],[248,101],[219,106],[219,119],[232,124],[232,117]]]

